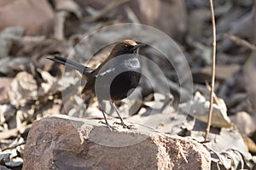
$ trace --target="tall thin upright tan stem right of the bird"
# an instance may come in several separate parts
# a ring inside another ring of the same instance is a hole
[[[214,94],[215,58],[216,58],[216,27],[215,27],[215,17],[214,17],[212,0],[210,0],[210,6],[211,6],[211,14],[212,14],[212,85],[211,85],[210,107],[209,107],[205,141],[207,141],[207,138],[210,132],[211,122],[212,122],[212,105],[213,105],[213,96],[214,96],[213,94]]]

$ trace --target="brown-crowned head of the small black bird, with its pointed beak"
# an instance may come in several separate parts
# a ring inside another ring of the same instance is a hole
[[[133,40],[124,40],[123,42],[117,43],[112,52],[112,56],[119,56],[123,54],[137,54],[137,49],[144,46],[143,43],[137,43]]]

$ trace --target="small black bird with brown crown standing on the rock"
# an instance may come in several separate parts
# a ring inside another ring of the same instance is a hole
[[[106,117],[106,111],[102,107],[102,101],[110,102],[114,111],[119,116],[119,124],[124,128],[134,128],[133,125],[125,124],[115,102],[127,98],[133,92],[141,78],[142,64],[138,59],[138,49],[145,46],[144,43],[127,39],[117,42],[111,50],[108,58],[105,59],[96,69],[81,65],[70,59],[61,56],[48,56],[47,59],[58,64],[66,65],[82,74],[86,81],[82,94],[95,94],[99,102],[105,122],[102,122],[110,129],[115,129],[110,125]]]

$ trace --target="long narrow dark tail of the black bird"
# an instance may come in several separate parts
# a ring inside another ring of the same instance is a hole
[[[69,60],[60,56],[48,56],[47,59],[53,60],[56,63],[59,63],[61,65],[66,65],[67,67],[70,67],[75,69],[76,71],[79,71],[86,80],[88,80],[91,77],[90,72],[93,71],[93,69],[91,69],[90,67],[86,67],[77,62],[74,62],[72,60]]]

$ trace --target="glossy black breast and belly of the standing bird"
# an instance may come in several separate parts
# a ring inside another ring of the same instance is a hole
[[[115,57],[102,66],[91,84],[99,100],[121,100],[137,87],[141,64],[134,55]],[[85,85],[86,86],[86,85]]]

